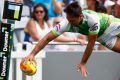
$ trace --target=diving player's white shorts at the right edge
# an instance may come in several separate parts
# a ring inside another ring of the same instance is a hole
[[[117,37],[120,37],[120,23],[113,22],[105,30],[104,34],[97,39],[97,41],[107,48],[112,49],[117,41]]]

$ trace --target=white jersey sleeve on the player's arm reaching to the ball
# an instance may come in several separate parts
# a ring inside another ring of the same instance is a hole
[[[59,36],[64,32],[67,32],[69,29],[69,23],[67,19],[64,19],[62,22],[60,22],[59,24],[57,24],[56,26],[54,26],[54,28],[52,29],[52,33],[55,36]]]

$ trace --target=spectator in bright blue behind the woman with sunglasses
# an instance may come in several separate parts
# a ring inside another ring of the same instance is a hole
[[[50,17],[49,24],[52,26],[55,17],[62,15],[62,0],[33,0],[35,4],[42,3],[48,9],[48,15]]]

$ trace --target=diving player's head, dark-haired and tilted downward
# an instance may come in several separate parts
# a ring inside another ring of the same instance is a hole
[[[66,17],[72,25],[79,25],[83,20],[82,9],[78,2],[73,2],[69,4],[64,11],[66,12]]]

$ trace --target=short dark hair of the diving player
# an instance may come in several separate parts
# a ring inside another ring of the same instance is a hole
[[[77,1],[72,2],[71,4],[69,4],[64,11],[71,15],[71,16],[75,16],[78,17],[80,14],[82,14],[82,9],[79,5],[79,3]]]

